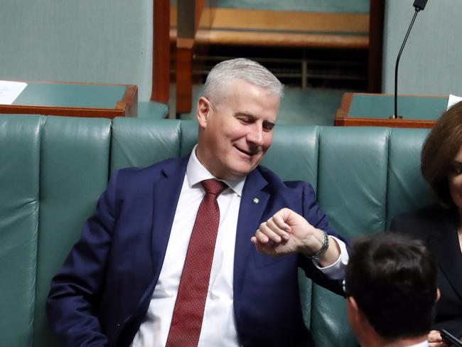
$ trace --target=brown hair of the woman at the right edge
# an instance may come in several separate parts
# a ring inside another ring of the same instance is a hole
[[[446,208],[454,206],[449,192],[448,173],[462,146],[462,101],[446,110],[426,137],[420,169],[436,200]]]

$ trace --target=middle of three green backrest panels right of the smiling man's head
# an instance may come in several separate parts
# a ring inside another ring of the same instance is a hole
[[[345,237],[385,228],[389,133],[387,128],[356,127],[321,131],[318,202],[331,226]],[[322,341],[322,346],[357,346],[342,297],[313,285],[313,303],[315,341]]]

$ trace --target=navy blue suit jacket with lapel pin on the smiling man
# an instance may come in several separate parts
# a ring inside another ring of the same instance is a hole
[[[53,278],[48,320],[63,346],[129,346],[159,278],[188,157],[114,173],[82,237]],[[254,203],[254,198],[259,203]],[[269,257],[250,237],[280,208],[336,235],[304,182],[283,182],[262,166],[247,176],[237,222],[234,311],[243,346],[311,346],[297,268],[342,294],[301,255]],[[218,332],[219,333],[219,332]]]

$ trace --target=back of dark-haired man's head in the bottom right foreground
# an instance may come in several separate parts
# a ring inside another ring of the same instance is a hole
[[[439,296],[436,273],[420,240],[397,233],[358,237],[346,269],[345,294],[348,320],[361,345],[425,340]]]

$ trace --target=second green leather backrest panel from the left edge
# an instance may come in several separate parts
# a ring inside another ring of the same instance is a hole
[[[35,168],[40,173],[40,214],[34,346],[54,341],[45,317],[50,280],[106,187],[110,130],[109,119],[43,117],[40,165]]]

